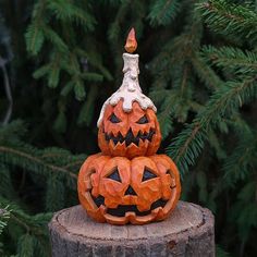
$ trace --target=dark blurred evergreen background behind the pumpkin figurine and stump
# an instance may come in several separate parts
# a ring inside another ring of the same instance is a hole
[[[132,26],[182,199],[213,212],[217,256],[257,256],[257,2],[243,0],[0,0],[0,256],[50,255]]]

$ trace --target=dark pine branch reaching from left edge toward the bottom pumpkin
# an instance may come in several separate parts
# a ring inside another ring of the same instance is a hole
[[[76,188],[77,171],[85,160],[85,156],[72,156],[70,151],[57,147],[49,147],[44,150],[37,149],[21,142],[21,135],[21,135],[25,131],[21,121],[14,121],[0,128],[0,159],[3,168],[9,166],[20,167],[47,180],[56,176],[59,181],[61,180],[62,184],[74,191]],[[0,174],[4,171],[7,172],[2,179],[5,178],[5,181],[11,183],[10,178],[8,178],[9,169],[2,169]],[[3,195],[4,188],[5,186],[1,187],[2,191],[0,191]],[[11,188],[12,186],[10,186],[9,193]],[[10,198],[15,198],[15,194],[13,194],[13,197],[11,196],[9,194]]]

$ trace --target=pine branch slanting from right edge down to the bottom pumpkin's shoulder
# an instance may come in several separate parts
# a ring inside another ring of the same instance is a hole
[[[206,133],[216,127],[223,117],[228,117],[233,110],[256,97],[256,79],[257,77],[253,77],[242,83],[227,83],[224,88],[213,94],[205,110],[198,113],[193,123],[187,125],[167,148],[168,155],[176,161],[182,174],[200,155]]]

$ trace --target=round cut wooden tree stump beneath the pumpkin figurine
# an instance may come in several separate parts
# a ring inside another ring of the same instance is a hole
[[[81,206],[58,211],[49,223],[53,257],[215,256],[215,219],[198,205],[179,201],[164,221],[111,225],[93,221]]]

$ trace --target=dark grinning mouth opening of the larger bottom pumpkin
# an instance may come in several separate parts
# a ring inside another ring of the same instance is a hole
[[[93,196],[93,200],[95,201],[98,208],[101,205],[105,206],[105,198],[101,195],[99,195],[98,197]],[[167,203],[168,200],[158,199],[154,201],[150,206],[150,209],[146,211],[139,211],[136,205],[119,205],[117,208],[113,208],[113,209],[107,208],[107,213],[115,216],[115,217],[125,217],[125,213],[131,211],[131,212],[135,212],[136,216],[147,216],[147,215],[150,215],[151,211],[158,207],[163,208]]]

